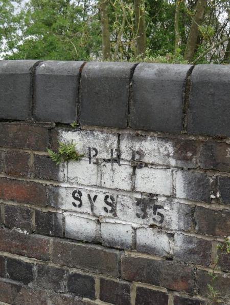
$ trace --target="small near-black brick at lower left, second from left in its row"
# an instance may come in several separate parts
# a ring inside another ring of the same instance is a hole
[[[7,257],[7,273],[11,279],[28,284],[33,280],[33,264]]]

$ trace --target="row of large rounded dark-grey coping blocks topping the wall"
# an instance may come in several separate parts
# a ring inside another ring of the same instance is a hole
[[[230,136],[230,67],[192,68],[2,60],[0,119]]]

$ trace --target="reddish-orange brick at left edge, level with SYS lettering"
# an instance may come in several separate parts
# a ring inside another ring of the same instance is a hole
[[[47,204],[45,187],[42,184],[7,178],[0,178],[0,198],[35,206],[44,207]]]

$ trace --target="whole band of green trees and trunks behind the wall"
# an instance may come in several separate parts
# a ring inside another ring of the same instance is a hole
[[[229,63],[230,0],[202,1],[203,14],[197,0],[2,0],[0,52],[5,59]]]

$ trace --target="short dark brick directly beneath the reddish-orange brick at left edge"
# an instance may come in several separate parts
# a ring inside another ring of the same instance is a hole
[[[31,230],[32,210],[20,206],[4,205],[5,225],[9,228]]]

